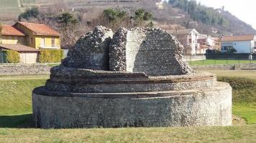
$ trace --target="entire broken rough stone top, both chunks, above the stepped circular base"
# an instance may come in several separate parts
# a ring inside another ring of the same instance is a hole
[[[63,65],[78,69],[144,72],[150,76],[190,74],[183,46],[161,29],[111,29],[97,26],[68,52]]]

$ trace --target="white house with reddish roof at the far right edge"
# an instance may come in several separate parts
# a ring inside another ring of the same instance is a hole
[[[221,38],[221,52],[236,49],[236,53],[252,53],[255,52],[255,43],[255,35],[223,36]]]

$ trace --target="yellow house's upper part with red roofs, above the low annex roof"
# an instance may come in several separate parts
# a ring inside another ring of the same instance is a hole
[[[22,44],[35,49],[60,49],[60,34],[44,24],[17,22],[2,26],[1,44]]]

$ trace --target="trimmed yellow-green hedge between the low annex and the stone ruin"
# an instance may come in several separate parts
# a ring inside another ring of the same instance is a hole
[[[40,63],[58,63],[63,59],[62,49],[45,49],[40,51]]]

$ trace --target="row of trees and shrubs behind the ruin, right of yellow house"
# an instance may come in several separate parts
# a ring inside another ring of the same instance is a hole
[[[125,9],[104,9],[99,16],[87,21],[81,21],[82,14],[78,12],[43,13],[37,7],[27,9],[19,15],[19,21],[44,23],[61,34],[63,47],[70,47],[80,36],[91,31],[94,26],[103,25],[114,31],[120,27],[153,26],[152,14],[145,9],[137,9],[132,14]]]

